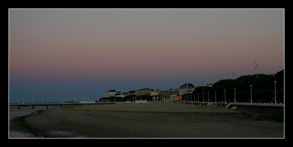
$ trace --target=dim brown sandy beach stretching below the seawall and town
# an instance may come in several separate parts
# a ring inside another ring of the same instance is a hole
[[[284,138],[284,122],[224,106],[77,105],[15,118],[9,133],[9,138]]]

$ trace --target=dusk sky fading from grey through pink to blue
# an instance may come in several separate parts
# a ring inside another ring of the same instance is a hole
[[[284,9],[9,9],[9,103],[284,69]],[[257,71],[255,70],[258,64]],[[43,100],[45,101],[45,100]]]

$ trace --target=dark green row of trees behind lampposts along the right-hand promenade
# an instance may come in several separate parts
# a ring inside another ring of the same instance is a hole
[[[192,97],[196,97],[195,100],[197,100],[198,94],[198,99],[202,101],[202,94],[204,93],[205,101],[208,101],[208,95],[209,99],[212,99],[212,101],[215,101],[216,95],[217,101],[224,101],[226,90],[226,102],[229,102],[229,100],[232,102],[234,101],[235,88],[236,101],[238,102],[248,102],[248,100],[250,101],[251,95],[253,102],[274,102],[274,81],[276,81],[277,102],[284,104],[284,69],[282,71],[277,72],[275,76],[258,74],[258,78],[257,75],[248,75],[239,77],[235,80],[220,80],[214,83],[212,87],[204,86],[203,89],[203,87],[201,86],[195,88],[192,94],[185,94],[183,95],[183,98],[188,96],[191,97],[192,95]],[[252,85],[252,88],[250,87],[250,85]]]

